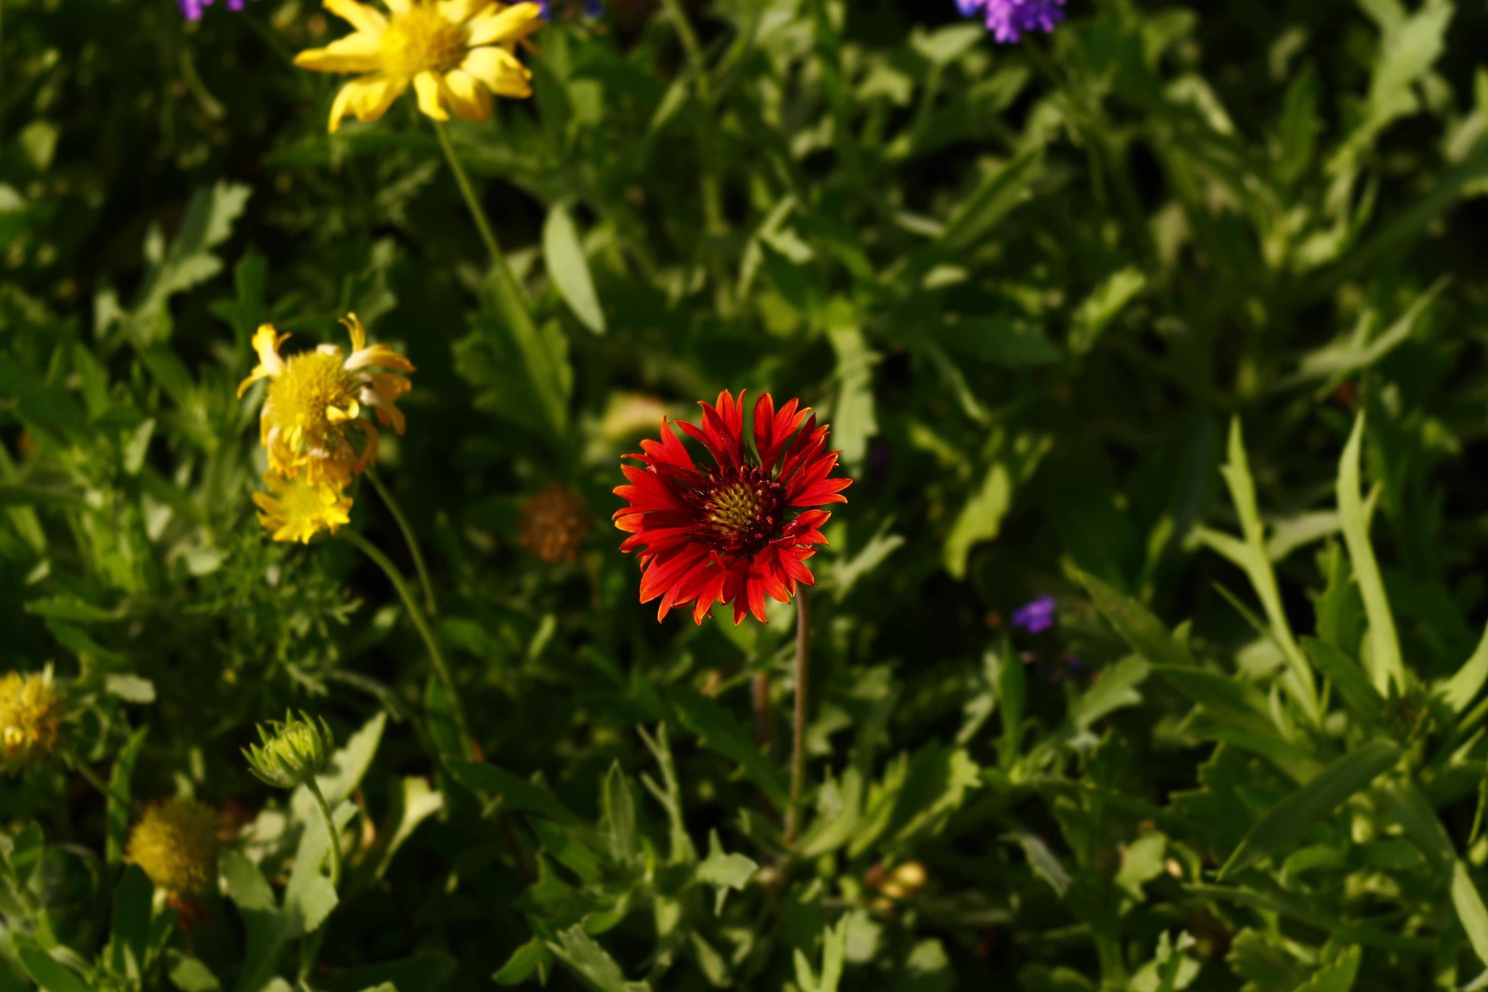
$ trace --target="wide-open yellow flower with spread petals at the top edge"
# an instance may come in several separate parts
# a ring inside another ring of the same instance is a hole
[[[357,0],[324,0],[356,31],[295,57],[301,68],[356,73],[330,106],[332,132],[348,113],[376,120],[412,85],[434,120],[449,110],[466,120],[491,116],[491,94],[530,97],[531,73],[516,45],[542,25],[536,3],[500,0],[382,0],[382,13]]]

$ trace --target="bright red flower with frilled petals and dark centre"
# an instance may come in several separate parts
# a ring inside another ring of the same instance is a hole
[[[815,584],[805,561],[826,544],[823,503],[847,503],[851,479],[829,479],[838,454],[823,451],[827,425],[817,427],[811,408],[790,400],[775,410],[769,393],[754,403],[754,451],[744,440],[744,393],[725,390],[717,406],[702,408],[702,427],[677,422],[713,455],[698,468],[664,416],[661,440],[643,440],[641,467],[622,466],[628,486],[615,495],[629,501],[616,510],[615,526],[631,534],[622,552],[640,549],[641,602],[661,596],[656,619],[673,607],[693,604],[692,619],[713,614],[717,602],[734,604],[734,623],[753,613],[765,620],[765,596],[790,602],[796,583]],[[757,461],[756,454],[757,452]],[[801,513],[790,518],[793,509]]]

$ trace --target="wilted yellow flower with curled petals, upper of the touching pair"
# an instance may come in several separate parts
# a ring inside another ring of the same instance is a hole
[[[368,332],[356,314],[348,314],[351,355],[341,357],[336,345],[320,345],[289,358],[280,345],[289,335],[263,324],[253,335],[259,364],[238,385],[243,396],[259,379],[269,379],[269,394],[259,415],[259,437],[269,452],[269,468],[284,479],[305,479],[314,486],[341,488],[376,461],[376,428],[360,416],[363,406],[376,410],[384,425],[403,433],[403,413],[396,403],[412,385],[402,375],[412,363],[387,345],[368,345]]]

